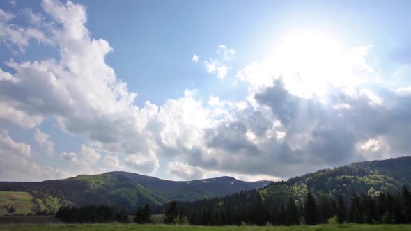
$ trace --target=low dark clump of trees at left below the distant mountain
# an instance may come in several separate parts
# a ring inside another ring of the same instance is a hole
[[[61,207],[56,218],[67,223],[110,223],[128,222],[128,214],[123,209],[108,205],[87,205],[81,207]]]

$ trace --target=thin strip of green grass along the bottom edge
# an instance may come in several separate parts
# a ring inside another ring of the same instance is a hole
[[[192,225],[134,225],[134,224],[95,224],[95,225],[0,225],[1,231],[13,231],[13,230],[28,230],[28,231],[40,231],[40,230],[82,230],[82,231],[113,231],[113,230],[226,230],[226,231],[327,231],[327,230],[344,230],[344,231],[379,231],[379,230],[393,230],[393,231],[405,231],[411,230],[411,225],[357,225],[357,224],[344,224],[344,225],[315,225],[315,226],[192,226]]]

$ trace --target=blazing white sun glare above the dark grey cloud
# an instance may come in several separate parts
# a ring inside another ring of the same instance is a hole
[[[284,85],[300,97],[322,97],[349,76],[348,53],[336,40],[322,33],[293,33],[274,48],[270,63]]]

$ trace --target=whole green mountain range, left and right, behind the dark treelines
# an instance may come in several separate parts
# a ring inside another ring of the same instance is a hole
[[[171,200],[194,201],[226,196],[215,201],[237,199],[240,191],[258,193],[265,202],[281,205],[290,200],[302,202],[308,191],[316,197],[348,200],[352,193],[376,196],[380,192],[396,194],[411,185],[411,157],[354,163],[339,168],[318,170],[283,182],[243,182],[233,177],[192,181],[162,180],[127,172],[78,175],[64,180],[44,182],[0,182],[0,191],[26,191],[55,212],[61,205],[107,204],[134,211],[140,205],[162,205]],[[258,189],[258,190],[254,190]],[[237,197],[237,198],[236,198]]]

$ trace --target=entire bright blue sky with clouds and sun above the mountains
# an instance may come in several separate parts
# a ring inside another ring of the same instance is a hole
[[[410,155],[410,5],[0,0],[0,180]]]

